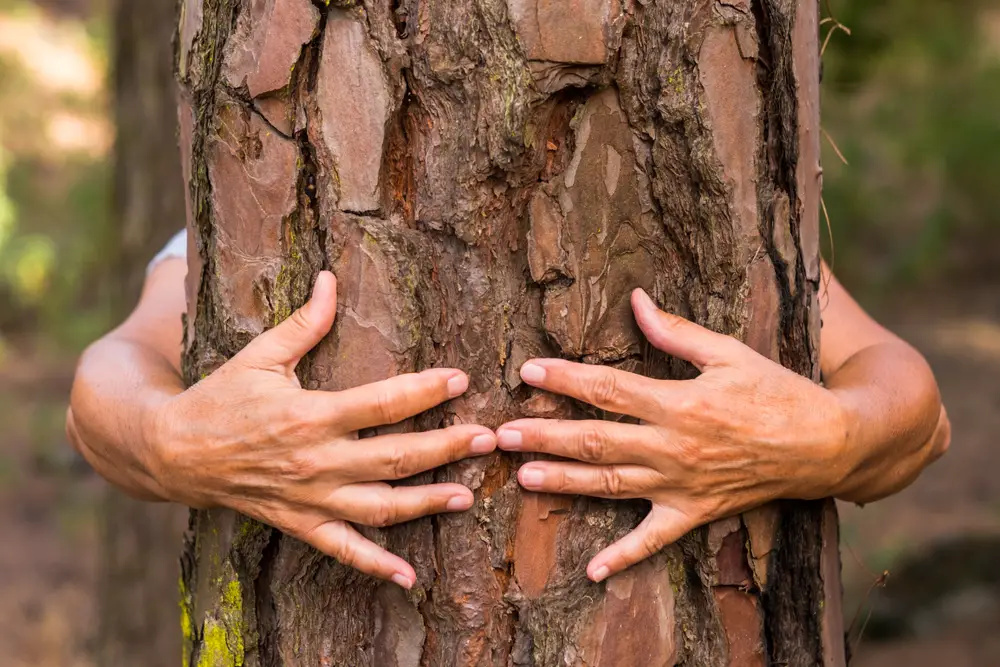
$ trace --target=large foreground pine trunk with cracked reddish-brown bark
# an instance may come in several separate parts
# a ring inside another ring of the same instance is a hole
[[[339,278],[300,366],[338,390],[447,365],[470,392],[401,427],[580,418],[535,356],[655,377],[628,295],[818,380],[815,0],[185,0],[186,375]],[[601,415],[608,417],[607,415]],[[366,534],[406,593],[231,512],[182,561],[191,665],[842,665],[832,503],[695,531],[592,584],[643,503],[519,489],[493,455],[415,480],[469,512]]]

